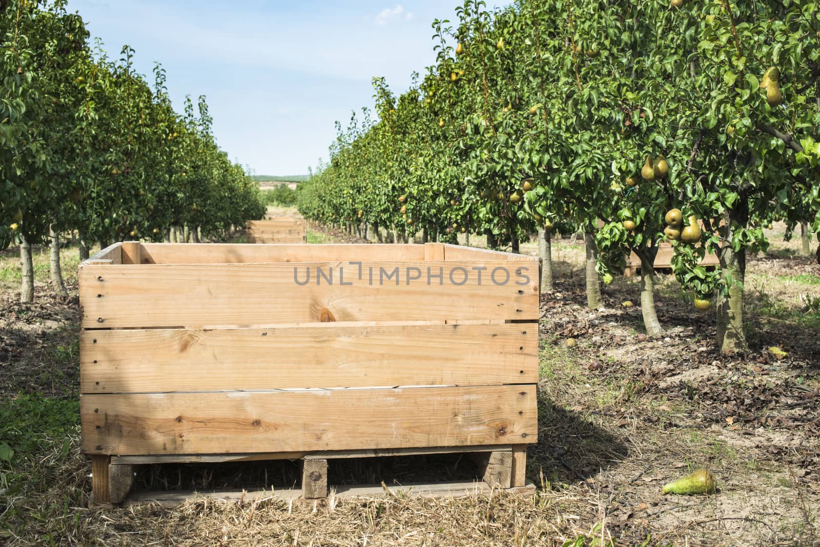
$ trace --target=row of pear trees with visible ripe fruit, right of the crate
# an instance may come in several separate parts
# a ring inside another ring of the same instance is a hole
[[[457,13],[435,21],[437,61],[408,92],[375,79],[375,111],[338,126],[301,185],[303,215],[444,241],[465,229],[513,250],[536,229],[581,228],[590,306],[634,251],[651,336],[651,264],[669,242],[697,307],[717,299],[722,350],[745,349],[745,255],[765,250],[762,227],[820,229],[820,2],[466,0]],[[699,265],[707,249],[716,271]]]

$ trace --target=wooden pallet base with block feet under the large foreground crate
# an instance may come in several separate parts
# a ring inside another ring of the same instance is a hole
[[[330,460],[376,457],[412,456],[429,454],[453,454],[453,448],[421,448],[393,450],[335,450],[315,454],[190,454],[175,456],[94,456],[93,491],[96,495],[108,496],[107,501],[91,500],[91,509],[116,506],[160,504],[175,507],[188,500],[209,499],[221,501],[258,500],[322,500],[328,496],[348,498],[356,496],[393,495],[399,497],[458,498],[468,495],[485,495],[493,490],[504,490],[518,494],[535,491],[532,483],[526,482],[526,445],[507,446],[465,446],[458,454],[467,454],[478,467],[481,481],[455,481],[441,483],[412,483],[406,485],[340,485],[328,483]],[[130,492],[137,466],[152,463],[226,463],[249,462],[270,459],[301,459],[302,487],[280,490],[207,490],[207,491],[139,491]]]

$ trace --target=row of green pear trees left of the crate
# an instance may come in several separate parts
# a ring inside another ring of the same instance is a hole
[[[172,226],[208,236],[264,210],[216,146],[205,98],[176,113],[162,66],[148,84],[133,49],[113,60],[91,47],[64,3],[0,2],[0,248],[21,243],[24,301],[34,296],[30,246],[49,236],[53,245],[76,231],[86,250],[162,241]]]

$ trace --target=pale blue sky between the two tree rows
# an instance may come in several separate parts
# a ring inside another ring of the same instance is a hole
[[[389,0],[69,0],[109,57],[136,50],[137,70],[167,71],[177,111],[204,94],[216,140],[257,174],[305,174],[328,157],[334,121],[372,106],[371,78],[394,91],[433,64],[430,24],[453,2]],[[491,2],[488,2],[492,5]],[[153,77],[150,78],[153,81]]]

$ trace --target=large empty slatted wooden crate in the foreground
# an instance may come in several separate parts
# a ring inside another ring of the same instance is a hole
[[[524,486],[539,272],[441,243],[108,247],[80,264],[94,500],[139,463],[304,459],[321,497],[328,459],[462,451]]]

